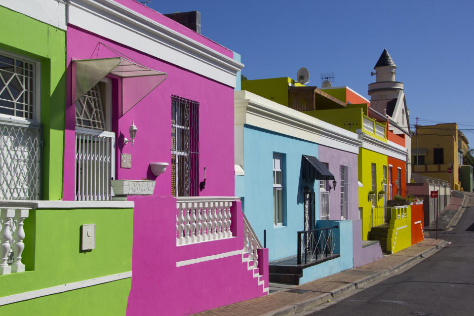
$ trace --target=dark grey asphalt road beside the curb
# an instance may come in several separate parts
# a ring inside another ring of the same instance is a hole
[[[473,202],[471,198],[470,205]],[[473,316],[474,206],[465,209],[452,231],[439,232],[438,238],[452,244],[403,273],[306,315]]]

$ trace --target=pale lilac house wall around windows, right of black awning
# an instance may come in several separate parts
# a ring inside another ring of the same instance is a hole
[[[318,159],[321,162],[326,162],[329,164],[329,171],[334,175],[334,178],[337,181],[336,189],[331,190],[329,193],[329,219],[330,220],[340,220],[341,219],[341,171],[340,166],[347,165],[349,166],[350,174],[350,202],[349,202],[349,218],[347,219],[357,219],[358,218],[358,176],[357,176],[357,154],[352,154],[345,152],[339,149],[334,149],[331,147],[326,147],[319,145]],[[331,181],[329,181],[331,183]],[[332,187],[332,184],[331,184]]]

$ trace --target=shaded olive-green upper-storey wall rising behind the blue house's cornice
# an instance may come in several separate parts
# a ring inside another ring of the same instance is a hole
[[[304,86],[288,77],[243,80],[241,82],[242,90],[255,93],[284,106],[288,106],[288,84]]]

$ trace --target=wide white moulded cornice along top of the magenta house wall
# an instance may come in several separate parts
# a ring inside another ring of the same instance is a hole
[[[232,87],[243,68],[231,57],[112,0],[70,0],[68,23]]]

